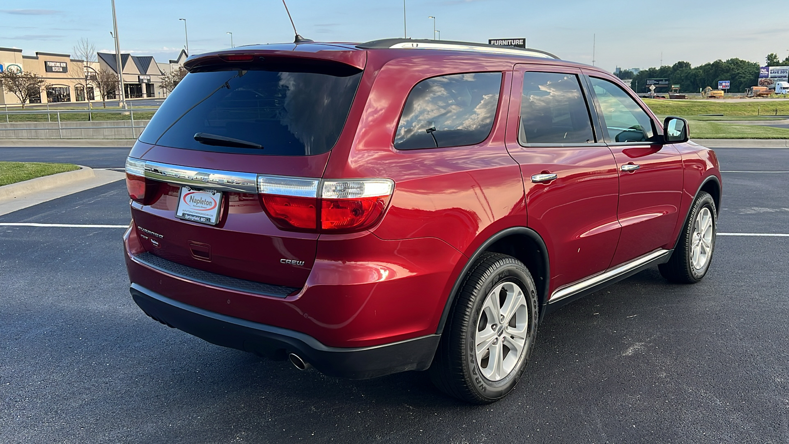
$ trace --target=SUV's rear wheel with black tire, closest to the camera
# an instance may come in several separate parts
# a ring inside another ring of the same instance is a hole
[[[506,254],[482,254],[455,297],[430,367],[432,382],[473,404],[507,396],[529,361],[537,321],[537,288],[529,270]]]

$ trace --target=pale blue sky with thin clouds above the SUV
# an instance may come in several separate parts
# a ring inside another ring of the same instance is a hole
[[[365,42],[403,36],[402,0],[286,0],[296,28],[316,41]],[[406,0],[406,32],[429,39],[433,19],[442,40],[487,43],[525,37],[529,47],[613,71],[672,65],[698,66],[742,58],[764,64],[789,55],[786,0],[757,6],[718,0]],[[714,6],[714,7],[710,7]],[[291,42],[282,0],[116,0],[122,53],[157,62],[255,43]],[[71,54],[80,39],[114,52],[110,0],[0,0],[0,47]],[[436,37],[439,33],[436,33]],[[593,63],[594,62],[594,63]]]

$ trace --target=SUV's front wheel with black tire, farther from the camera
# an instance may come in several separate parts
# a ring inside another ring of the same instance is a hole
[[[660,274],[677,284],[695,284],[704,279],[715,251],[717,227],[715,201],[701,191],[690,207],[674,253],[668,262],[658,265]]]

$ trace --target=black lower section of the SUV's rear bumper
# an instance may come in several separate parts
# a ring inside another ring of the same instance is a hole
[[[433,334],[362,348],[328,347],[305,333],[204,310],[138,284],[132,284],[130,292],[134,302],[151,318],[211,344],[271,359],[286,359],[288,353],[295,353],[321,373],[341,378],[364,379],[426,370],[440,337]]]

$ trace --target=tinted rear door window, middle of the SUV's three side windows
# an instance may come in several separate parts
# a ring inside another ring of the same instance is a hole
[[[521,145],[578,145],[595,141],[578,76],[523,73],[518,141]]]

